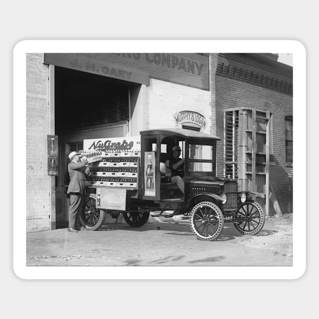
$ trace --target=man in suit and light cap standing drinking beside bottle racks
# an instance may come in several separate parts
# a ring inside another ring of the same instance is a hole
[[[78,232],[81,230],[79,224],[79,215],[83,208],[83,200],[85,194],[85,179],[89,175],[91,166],[88,165],[87,158],[82,157],[81,153],[71,152],[69,154],[70,163],[67,166],[70,175],[70,183],[67,193],[70,194],[69,207],[69,228],[68,231]],[[85,229],[82,227],[82,229]]]

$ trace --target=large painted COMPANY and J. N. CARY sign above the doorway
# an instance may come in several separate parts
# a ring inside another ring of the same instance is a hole
[[[43,63],[150,85],[150,77],[209,91],[209,58],[196,53],[44,53]]]

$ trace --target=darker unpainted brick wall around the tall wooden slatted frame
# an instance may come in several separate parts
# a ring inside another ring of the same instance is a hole
[[[224,174],[224,145],[223,145],[223,118],[227,108],[249,107],[269,110],[271,116],[271,165],[269,182],[283,213],[292,213],[292,167],[286,166],[286,126],[285,116],[293,115],[293,98],[289,94],[276,92],[257,87],[245,82],[236,81],[216,75],[213,70],[216,66],[216,57],[211,58],[211,92],[215,90],[215,100],[212,105],[212,133],[221,138],[217,148],[217,175]],[[253,66],[246,67],[260,73]],[[275,76],[275,75],[274,75]],[[292,81],[292,79],[291,79]],[[214,107],[215,105],[215,107]],[[214,110],[215,108],[215,110]]]

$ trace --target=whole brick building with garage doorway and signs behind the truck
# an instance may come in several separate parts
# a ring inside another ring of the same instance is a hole
[[[276,55],[29,53],[26,59],[27,232],[67,225],[66,158],[84,139],[159,127],[219,136],[217,175],[276,198],[283,213],[292,213],[292,67]],[[48,176],[52,136],[58,176]],[[274,212],[272,201],[263,204]]]

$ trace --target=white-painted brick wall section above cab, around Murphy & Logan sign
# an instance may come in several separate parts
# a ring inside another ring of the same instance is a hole
[[[208,124],[203,132],[210,133],[209,95],[209,91],[151,78],[146,87],[146,129],[176,128],[173,115],[189,110],[206,117]]]

